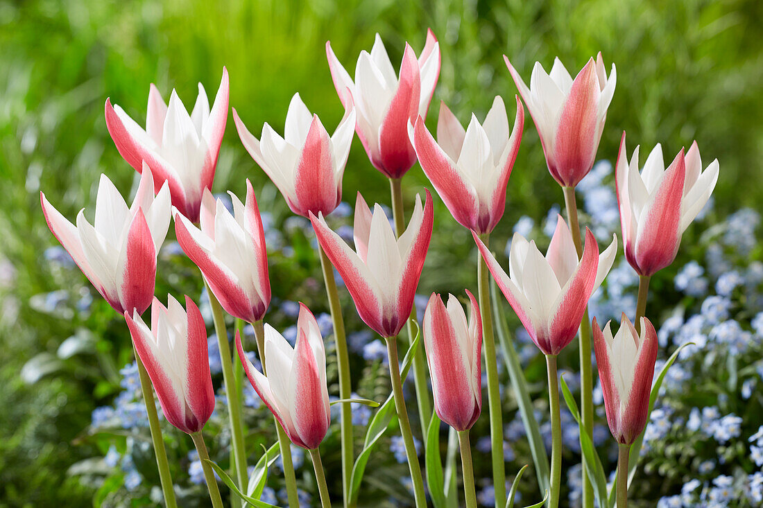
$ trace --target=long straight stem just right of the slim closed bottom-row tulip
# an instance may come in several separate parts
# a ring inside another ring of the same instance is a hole
[[[488,246],[489,235],[480,236]],[[479,256],[479,255],[478,255]],[[506,505],[506,466],[504,463],[504,416],[501,391],[498,388],[498,364],[495,353],[493,317],[490,307],[490,272],[485,259],[479,256],[477,265],[479,312],[482,317],[482,343],[485,353],[485,373],[488,375],[488,406],[490,410],[491,458],[493,462],[493,487],[496,508]]]

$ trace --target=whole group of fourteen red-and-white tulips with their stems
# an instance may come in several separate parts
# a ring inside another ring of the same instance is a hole
[[[528,88],[517,69],[505,59],[533,117],[549,172],[564,189],[567,205],[567,218],[558,217],[545,256],[535,240],[519,233],[513,236],[507,273],[491,252],[488,238],[500,223],[506,207],[508,181],[523,137],[524,105],[515,96],[517,109],[510,125],[504,99],[497,96],[483,122],[472,114],[468,127],[464,128],[443,103],[439,108],[435,139],[427,127],[426,117],[439,77],[439,49],[432,31],[427,33],[418,57],[406,43],[399,72],[396,72],[377,35],[371,52],[360,53],[355,78],[351,79],[327,43],[328,67],[344,108],[343,118],[333,135],[316,114],[311,114],[298,93],[288,106],[283,137],[265,123],[258,140],[233,109],[233,120],[246,151],[282,193],[291,211],[309,218],[314,228],[333,319],[342,399],[339,402],[349,403],[352,378],[332,268],[342,278],[360,319],[386,342],[392,397],[379,411],[388,411],[394,404],[416,506],[426,506],[427,498],[402,390],[407,364],[414,365],[422,431],[426,431],[425,424],[436,425],[442,420],[459,436],[465,501],[471,508],[476,506],[476,500],[468,433],[481,418],[483,361],[495,502],[496,506],[506,506],[501,445],[503,406],[498,389],[492,317],[493,310],[500,308],[500,304],[490,301],[492,275],[530,338],[546,355],[552,422],[550,470],[545,449],[538,453],[533,451],[533,458],[539,483],[549,488],[549,505],[559,506],[562,466],[557,358],[579,335],[581,447],[586,446],[585,436],[591,432],[593,414],[592,333],[607,423],[620,444],[617,502],[623,508],[627,503],[629,452],[632,446],[640,446],[639,436],[648,420],[658,349],[655,328],[645,317],[649,277],[675,259],[682,234],[710,198],[718,178],[718,162],[713,161],[703,170],[694,142],[686,153],[682,149],[665,169],[662,149],[657,145],[639,172],[639,149],[636,147],[628,160],[623,133],[615,184],[625,258],[640,276],[641,285],[634,321],[623,313],[620,329],[613,335],[610,323],[606,323],[604,330],[595,319],[591,324],[587,307],[617,256],[617,236],[600,251],[597,238],[588,227],[581,235],[575,186],[594,163],[607,108],[615,92],[615,66],[607,76],[599,53],[573,79],[559,59],[555,59],[550,73],[536,63]],[[233,449],[231,469],[235,478],[227,483],[237,484],[238,494],[246,492],[249,483],[249,454],[238,400],[240,376],[233,375],[232,365],[239,358],[239,367],[243,367],[256,394],[275,417],[289,504],[298,503],[296,477],[291,467],[291,442],[310,452],[320,500],[326,507],[330,506],[330,492],[318,453],[331,424],[325,337],[304,304],[300,304],[294,346],[273,326],[264,323],[271,301],[271,281],[268,246],[253,185],[246,179],[243,202],[230,193],[232,211],[223,201],[216,201],[211,193],[227,122],[228,88],[228,73],[223,69],[214,104],[210,107],[204,87],[199,84],[198,98],[188,113],[174,91],[166,104],[158,89],[151,85],[145,129],[106,99],[105,121],[114,144],[125,161],[140,172],[132,205],[128,207],[111,181],[101,175],[95,225],[80,211],[75,226],[41,194],[43,214],[50,230],[95,289],[126,320],[137,363],[145,374],[141,376],[143,397],[166,505],[176,506],[175,492],[162,429],[153,405],[152,386],[166,420],[192,436],[202,459],[211,501],[214,506],[221,506],[221,494],[201,437],[215,404],[207,326],[191,297],[185,297],[185,308],[171,295],[166,307],[154,297],[157,252],[172,218],[179,245],[198,266],[208,288],[214,316]],[[394,228],[381,204],[369,207],[358,191],[354,245],[349,246],[330,228],[325,216],[340,204],[343,172],[354,133],[358,134],[370,164],[390,178]],[[414,296],[430,240],[437,232],[433,227],[433,197],[428,189],[423,189],[423,204],[420,194],[416,195],[405,226],[401,178],[417,161],[452,217],[471,231],[479,254],[478,297],[465,289],[468,320],[457,297],[451,294],[444,303],[439,294],[433,293],[423,315],[423,350],[417,346],[416,332],[410,321],[416,318]],[[320,299],[316,296],[317,301]],[[151,307],[150,326],[141,317],[148,307]],[[246,355],[244,337],[238,332],[235,334],[237,355],[231,353],[224,312],[253,325],[262,371]],[[401,371],[398,336],[406,326],[411,342],[410,360]],[[427,367],[433,409],[429,402]],[[515,374],[522,376],[521,372]],[[515,380],[513,384],[515,389],[521,387]],[[362,477],[367,455],[362,463],[354,463],[349,415],[349,406],[343,407],[342,494],[345,506],[354,506],[359,482],[351,479],[356,478],[356,474]],[[535,416],[532,411],[525,416],[530,433],[533,423],[537,425]],[[378,436],[370,440],[371,445],[376,439]],[[365,442],[369,446],[369,437]],[[633,457],[638,457],[638,451],[633,450]],[[435,467],[430,462],[432,453],[439,454],[439,449],[427,450],[430,468]],[[587,456],[588,460],[591,456]],[[587,463],[583,477],[584,485],[591,492],[597,481],[588,476],[593,467]],[[605,491],[606,488],[604,486]],[[237,495],[235,489],[233,493]],[[438,496],[432,495],[432,500],[439,506]],[[606,500],[598,502],[602,506]],[[593,506],[593,498],[584,496],[584,503]]]

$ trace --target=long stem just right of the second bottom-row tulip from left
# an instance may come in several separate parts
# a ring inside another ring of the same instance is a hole
[[[336,365],[339,368],[339,397],[349,399],[352,397],[353,387],[349,376],[349,355],[347,354],[347,339],[344,331],[342,318],[342,306],[339,301],[339,293],[336,291],[336,279],[333,275],[333,266],[326,256],[324,249],[318,246],[320,255],[320,268],[324,272],[326,294],[329,298],[329,309],[333,323],[334,343],[336,344]],[[353,475],[353,408],[349,404],[340,404],[342,432],[342,493],[344,506],[349,503],[349,481]]]

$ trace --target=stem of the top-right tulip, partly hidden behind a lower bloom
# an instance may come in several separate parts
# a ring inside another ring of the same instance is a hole
[[[565,194],[565,207],[570,221],[572,241],[578,258],[583,255],[583,243],[581,240],[580,223],[578,222],[578,204],[575,201],[575,188],[563,187]],[[591,321],[588,319],[588,308],[583,313],[578,336],[580,342],[580,393],[581,393],[581,420],[588,437],[594,439],[594,368],[591,365]],[[582,458],[585,461],[585,458]],[[588,471],[584,467],[581,471],[583,484],[583,508],[594,506],[594,485],[588,478]]]

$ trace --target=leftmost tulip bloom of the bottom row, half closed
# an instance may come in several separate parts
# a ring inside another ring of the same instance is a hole
[[[193,434],[204,427],[214,410],[214,389],[204,318],[191,298],[185,297],[185,307],[172,296],[167,307],[154,298],[150,328],[137,310],[132,316],[125,311],[124,318],[164,416],[178,429]]]

